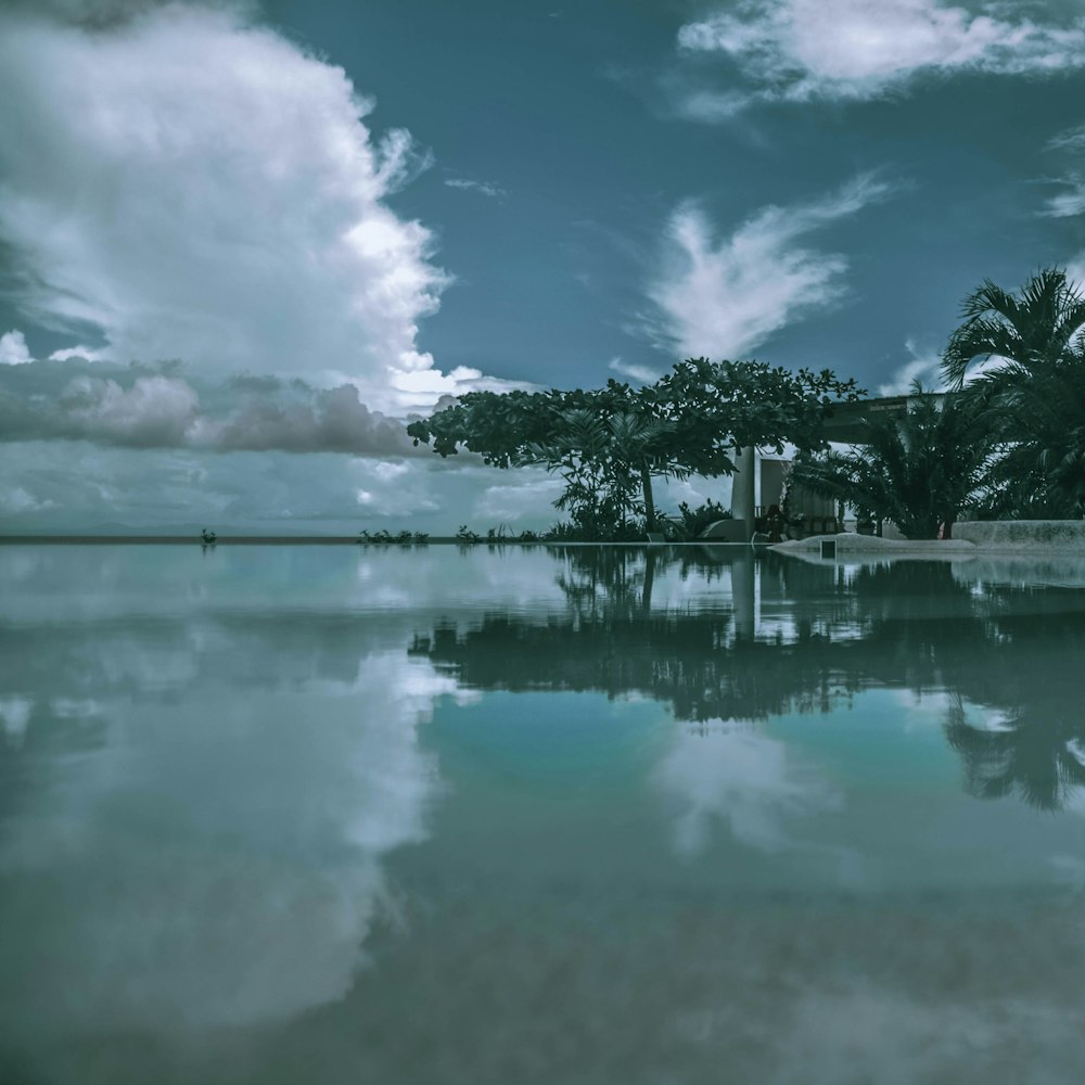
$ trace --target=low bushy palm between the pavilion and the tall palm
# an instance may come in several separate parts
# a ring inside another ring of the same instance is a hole
[[[937,538],[940,529],[950,538],[961,508],[986,483],[993,437],[980,413],[966,393],[939,396],[917,381],[904,414],[865,420],[861,451],[800,457],[792,478],[892,520],[909,539]]]

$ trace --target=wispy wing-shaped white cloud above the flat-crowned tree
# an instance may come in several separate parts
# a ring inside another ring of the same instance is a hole
[[[648,290],[658,307],[649,332],[682,354],[735,358],[831,306],[846,292],[847,259],[801,247],[800,240],[890,191],[864,175],[821,201],[765,207],[723,241],[695,204],[681,205],[667,226],[663,271]]]

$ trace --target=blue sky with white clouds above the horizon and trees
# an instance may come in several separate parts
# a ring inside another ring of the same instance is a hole
[[[404,421],[935,385],[984,279],[1085,279],[1080,0],[0,0],[0,100],[2,534],[545,527]]]

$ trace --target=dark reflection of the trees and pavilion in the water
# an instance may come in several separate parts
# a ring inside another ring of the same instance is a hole
[[[567,611],[439,627],[412,651],[475,688],[639,693],[694,722],[829,712],[868,687],[944,689],[955,698],[946,738],[970,792],[1057,809],[1085,787],[1080,592],[975,592],[948,562],[845,574],[769,556],[758,566],[761,603],[784,610],[792,631],[743,638],[732,595],[711,605],[702,597],[700,610],[653,609],[651,595],[668,570],[709,579],[731,566],[737,586],[748,551],[566,548],[557,557]],[[996,723],[970,722],[966,701]]]

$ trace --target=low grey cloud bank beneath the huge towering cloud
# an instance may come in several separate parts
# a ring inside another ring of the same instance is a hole
[[[39,372],[36,372],[40,371]],[[102,375],[99,375],[101,373]],[[21,379],[0,376],[0,441],[67,439],[129,448],[208,451],[278,449],[414,456],[401,422],[371,411],[349,384],[311,388],[301,381],[241,378],[210,392],[227,398],[202,407],[189,381],[117,366],[35,362]],[[60,391],[51,391],[59,384]],[[235,401],[238,393],[240,403]],[[424,450],[423,450],[424,451]]]

